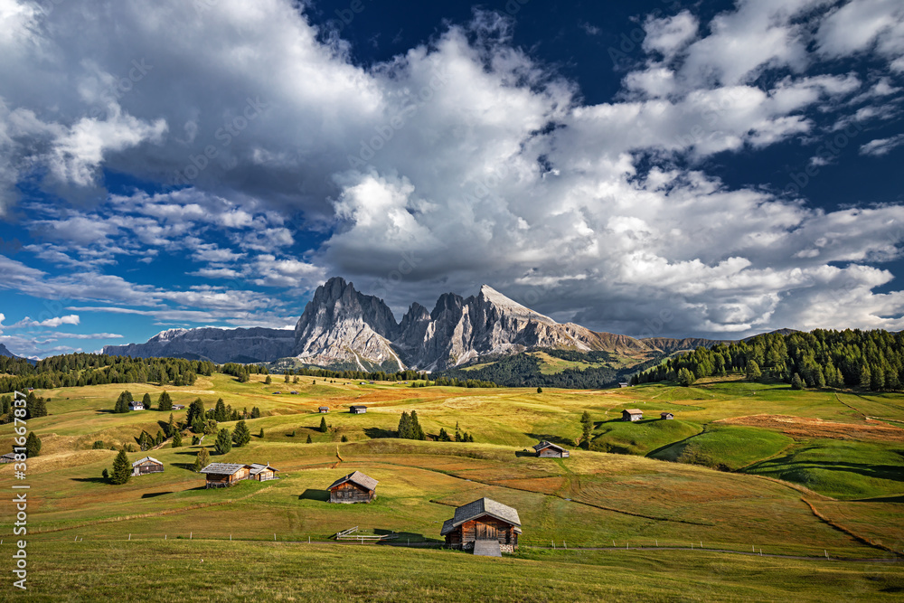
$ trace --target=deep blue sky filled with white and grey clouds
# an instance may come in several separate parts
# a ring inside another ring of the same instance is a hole
[[[904,329],[904,4],[0,0],[0,344],[397,318]]]

